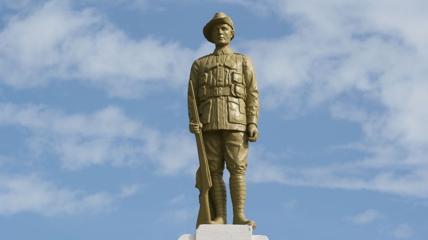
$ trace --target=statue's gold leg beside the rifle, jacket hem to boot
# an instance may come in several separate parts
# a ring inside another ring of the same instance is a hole
[[[224,144],[219,131],[204,133],[203,138],[212,182],[209,195],[215,208],[215,219],[207,224],[227,224],[226,186],[223,181]]]

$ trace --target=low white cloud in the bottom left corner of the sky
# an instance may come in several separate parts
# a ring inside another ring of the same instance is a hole
[[[114,203],[137,192],[137,185],[125,187],[133,191],[119,194],[98,192],[86,194],[82,190],[61,188],[37,175],[0,176],[0,215],[23,212],[45,216],[109,213]]]

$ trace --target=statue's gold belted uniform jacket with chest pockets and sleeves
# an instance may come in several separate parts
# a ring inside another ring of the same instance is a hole
[[[229,47],[197,59],[191,68],[202,131],[247,131],[257,125],[259,94],[251,58]],[[192,113],[189,111],[192,121]]]

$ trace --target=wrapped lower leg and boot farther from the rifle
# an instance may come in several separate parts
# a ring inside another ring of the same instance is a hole
[[[253,230],[256,229],[256,223],[252,220],[248,220],[244,214],[245,198],[247,194],[244,175],[230,176],[229,184],[233,205],[233,224],[252,225]]]

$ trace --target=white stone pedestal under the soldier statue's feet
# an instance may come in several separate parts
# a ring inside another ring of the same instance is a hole
[[[267,236],[252,233],[250,225],[202,224],[196,234],[184,234],[178,240],[269,240]]]

